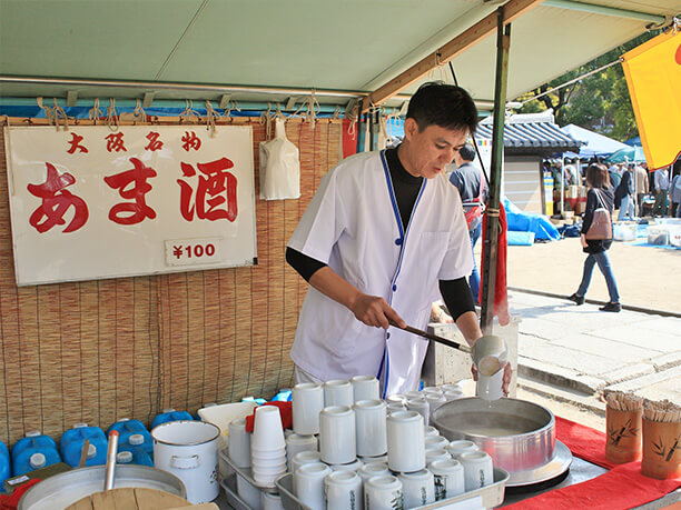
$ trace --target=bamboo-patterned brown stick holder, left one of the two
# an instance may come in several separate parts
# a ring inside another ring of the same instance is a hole
[[[620,411],[605,408],[605,458],[621,464],[641,458],[642,410]]]

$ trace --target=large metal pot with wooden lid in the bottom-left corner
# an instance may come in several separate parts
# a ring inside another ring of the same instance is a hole
[[[68,507],[95,492],[101,492],[105,471],[105,466],[92,466],[47,478],[21,497],[17,510],[55,510]],[[158,489],[185,499],[187,497],[185,484],[179,478],[146,466],[117,464],[114,487]]]

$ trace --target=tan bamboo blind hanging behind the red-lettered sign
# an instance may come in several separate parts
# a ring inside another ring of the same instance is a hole
[[[4,139],[0,134],[0,440],[58,439],[73,423],[150,424],[165,408],[270,397],[292,383],[288,357],[307,284],[285,261],[324,173],[339,160],[340,121],[287,122],[300,150],[299,200],[259,200],[258,264],[18,288]],[[87,124],[88,122],[79,122]]]

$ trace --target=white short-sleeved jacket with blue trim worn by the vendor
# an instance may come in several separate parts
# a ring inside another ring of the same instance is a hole
[[[443,176],[424,179],[404,229],[384,151],[345,159],[322,179],[288,247],[328,264],[369,296],[381,296],[407,324],[425,329],[438,280],[473,270],[458,191]],[[383,394],[416,388],[427,340],[369,327],[313,287],[307,291],[294,362],[322,379],[376,374]]]

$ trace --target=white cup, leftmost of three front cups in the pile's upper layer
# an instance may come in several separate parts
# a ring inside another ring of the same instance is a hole
[[[349,383],[348,383],[349,384]],[[332,406],[319,413],[319,453],[327,464],[345,464],[357,458],[355,411]]]

